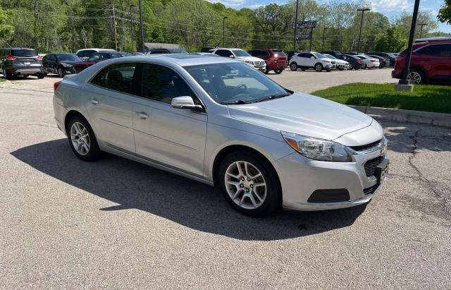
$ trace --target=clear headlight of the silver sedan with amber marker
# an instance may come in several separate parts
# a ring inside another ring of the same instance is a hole
[[[333,162],[351,162],[345,146],[329,140],[281,132],[288,145],[309,159]]]

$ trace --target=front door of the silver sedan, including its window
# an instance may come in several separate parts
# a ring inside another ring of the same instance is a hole
[[[173,97],[196,95],[171,68],[144,64],[142,98],[135,103],[137,155],[202,177],[207,115],[171,106]],[[198,100],[197,100],[198,102]]]

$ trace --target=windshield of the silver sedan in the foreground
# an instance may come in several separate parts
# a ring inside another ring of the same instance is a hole
[[[290,95],[271,78],[242,63],[187,66],[185,69],[218,103],[244,104]]]

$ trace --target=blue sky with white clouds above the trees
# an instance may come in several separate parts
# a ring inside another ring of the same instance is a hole
[[[270,3],[284,4],[288,1],[284,0],[208,0],[210,2],[216,3],[221,2],[226,7],[232,8],[258,8],[259,6],[264,6]],[[328,0],[317,0],[319,4],[325,3]],[[346,1],[346,0],[339,0]],[[420,10],[430,11],[432,15],[437,16],[440,6],[443,4],[444,0],[422,0],[420,2]],[[390,20],[399,16],[402,11],[413,11],[414,0],[371,0],[371,8],[373,11],[383,13]],[[445,23],[438,23],[438,30],[443,32],[451,33],[451,25],[446,25]]]

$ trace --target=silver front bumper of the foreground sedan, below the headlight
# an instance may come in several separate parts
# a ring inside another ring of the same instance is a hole
[[[283,192],[283,207],[290,210],[334,210],[368,203],[380,188],[376,176],[366,176],[364,164],[381,156],[381,150],[354,155],[354,162],[323,162],[303,157],[298,152],[278,159],[273,166],[278,172]],[[388,161],[385,155],[383,160]],[[385,177],[383,178],[385,179]],[[345,190],[349,199],[335,202],[309,202],[315,191]]]

